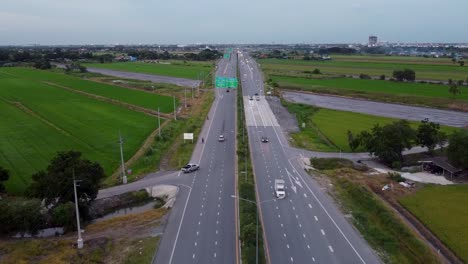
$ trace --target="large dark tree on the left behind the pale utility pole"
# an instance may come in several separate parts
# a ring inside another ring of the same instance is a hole
[[[30,195],[44,199],[46,205],[74,202],[73,171],[80,180],[78,203],[87,208],[97,196],[104,170],[98,163],[83,159],[78,151],[58,152],[45,171],[35,173]]]

